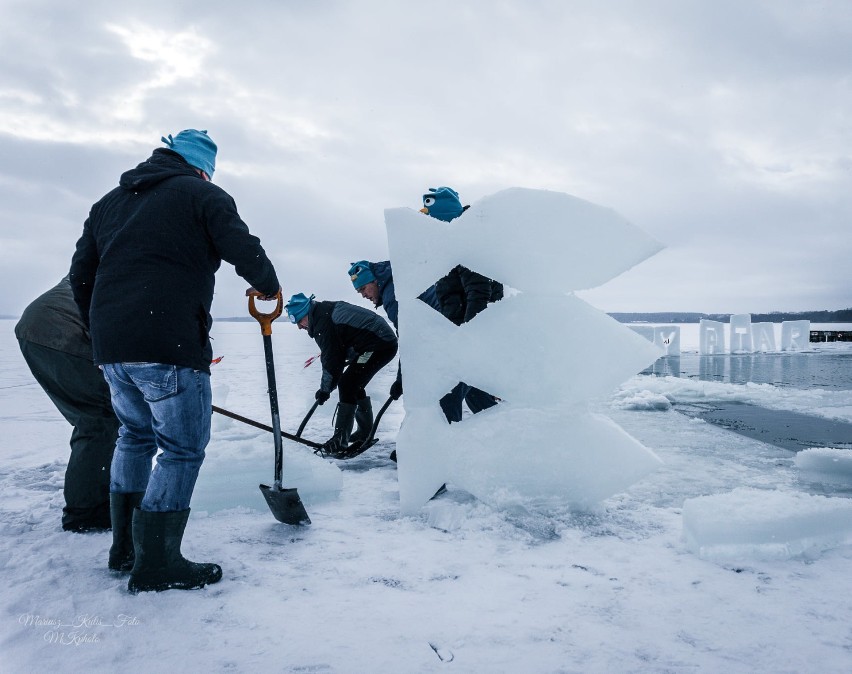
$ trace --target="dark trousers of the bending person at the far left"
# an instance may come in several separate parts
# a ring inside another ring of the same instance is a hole
[[[19,343],[36,381],[74,427],[65,471],[63,528],[108,529],[110,463],[119,421],[103,374],[85,358],[26,340]]]

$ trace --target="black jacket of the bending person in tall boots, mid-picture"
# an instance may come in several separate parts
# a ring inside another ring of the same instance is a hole
[[[375,311],[349,302],[312,302],[308,316],[308,335],[322,354],[323,391],[335,389],[348,359],[396,348],[396,335]]]

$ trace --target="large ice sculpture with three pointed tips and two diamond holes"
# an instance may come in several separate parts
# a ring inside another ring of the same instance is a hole
[[[400,506],[442,484],[498,507],[588,507],[659,465],[588,401],[662,355],[574,296],[662,246],[612,210],[560,192],[512,188],[445,223],[385,211],[399,301],[405,419],[397,436]],[[456,265],[506,296],[456,326],[417,299]],[[496,407],[448,424],[438,400],[459,381]]]

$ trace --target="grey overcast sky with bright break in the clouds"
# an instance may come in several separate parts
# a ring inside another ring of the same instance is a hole
[[[604,311],[852,306],[849,0],[0,0],[0,314],[89,207],[208,129],[286,295],[358,296],[383,211],[450,185],[567,192],[667,248]],[[488,242],[494,245],[494,242]],[[215,316],[244,315],[230,265]],[[179,288],[175,292],[180,292]]]

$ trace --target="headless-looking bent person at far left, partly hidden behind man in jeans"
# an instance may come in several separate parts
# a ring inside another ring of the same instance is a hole
[[[74,427],[62,528],[108,531],[109,469],[120,424],[67,276],[24,309],[15,336],[33,377]]]

